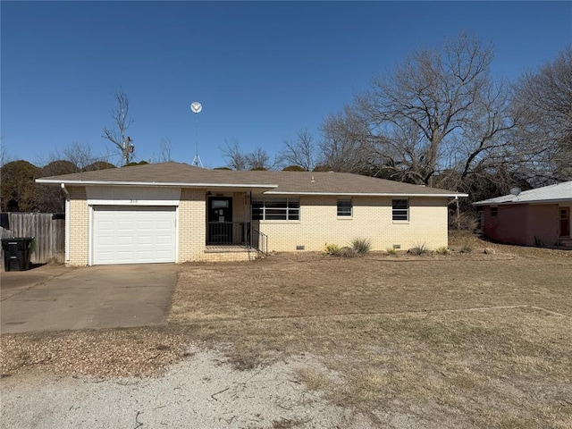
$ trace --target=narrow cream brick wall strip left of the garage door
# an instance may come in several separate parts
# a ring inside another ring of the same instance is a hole
[[[66,265],[88,265],[89,210],[86,189],[68,188],[70,193],[70,260]]]

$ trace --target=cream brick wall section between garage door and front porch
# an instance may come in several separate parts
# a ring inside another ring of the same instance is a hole
[[[181,189],[178,263],[204,260],[206,247],[206,189]]]

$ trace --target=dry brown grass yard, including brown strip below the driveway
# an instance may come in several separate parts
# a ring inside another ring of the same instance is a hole
[[[299,383],[372,427],[572,427],[572,252],[467,240],[183,265],[167,326],[3,335],[1,369],[145,376],[199,344],[241,371],[311,357]]]

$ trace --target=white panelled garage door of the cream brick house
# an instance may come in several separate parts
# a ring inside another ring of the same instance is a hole
[[[175,262],[175,207],[95,206],[93,264]]]

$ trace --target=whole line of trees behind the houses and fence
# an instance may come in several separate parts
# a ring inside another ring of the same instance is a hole
[[[223,168],[354,172],[467,192],[466,209],[514,186],[572,180],[572,47],[516,81],[492,75],[493,57],[492,45],[466,34],[416,50],[326,116],[317,137],[300,128],[272,155],[264,147],[245,152],[237,139],[225,140]],[[129,164],[129,99],[122,90],[114,98],[114,128],[104,128],[102,137]],[[170,161],[171,142],[162,140],[160,148],[158,161]],[[4,164],[2,210],[17,203],[17,210],[52,211],[46,210],[47,190],[12,185],[13,174],[36,178],[114,166],[97,164],[77,144],[63,158],[42,168]]]

